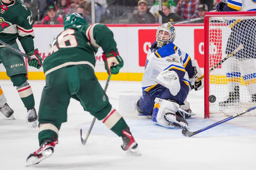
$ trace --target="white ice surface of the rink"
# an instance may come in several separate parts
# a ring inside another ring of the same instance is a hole
[[[100,81],[104,87],[106,81]],[[29,81],[38,110],[43,80]],[[85,145],[80,141],[91,124],[92,116],[80,103],[71,99],[68,122],[60,129],[59,144],[51,157],[36,166],[25,167],[28,155],[39,148],[38,128],[26,123],[26,108],[10,80],[0,85],[16,120],[0,114],[0,170],[254,170],[256,169],[256,117],[237,117],[193,137],[185,137],[181,129],[167,129],[148,119],[125,118],[139,144],[141,157],[127,155],[120,147],[122,139],[96,121]],[[140,82],[110,81],[107,94],[118,109],[121,94],[140,93]],[[188,101],[197,114],[188,119],[191,131],[208,126],[225,117],[204,119],[203,90],[190,92]]]

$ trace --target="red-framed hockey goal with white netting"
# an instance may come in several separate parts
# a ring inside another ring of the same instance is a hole
[[[226,113],[235,114],[256,105],[252,102],[253,93],[256,92],[255,28],[256,11],[205,14],[204,118]],[[216,69],[209,71],[232,54],[239,44],[243,44],[244,49],[231,55]],[[209,102],[210,95],[216,97],[215,102]],[[228,104],[223,104],[229,97],[231,100],[228,100]]]

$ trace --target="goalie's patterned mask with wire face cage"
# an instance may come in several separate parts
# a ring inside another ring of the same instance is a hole
[[[156,31],[157,47],[161,48],[172,43],[176,37],[175,28],[170,22],[162,24]]]

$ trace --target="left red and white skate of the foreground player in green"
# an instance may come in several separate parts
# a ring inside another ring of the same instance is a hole
[[[53,141],[45,141],[41,144],[40,148],[36,151],[31,153],[27,158],[27,166],[35,165],[48,158],[53,153],[54,146],[58,144],[58,139]]]

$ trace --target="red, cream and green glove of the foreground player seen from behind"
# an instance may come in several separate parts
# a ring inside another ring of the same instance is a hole
[[[112,51],[107,54],[102,53],[102,59],[108,75],[118,74],[119,70],[124,66],[124,61],[120,57],[118,51]]]

